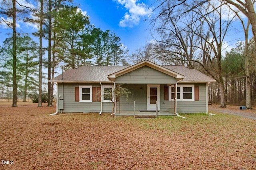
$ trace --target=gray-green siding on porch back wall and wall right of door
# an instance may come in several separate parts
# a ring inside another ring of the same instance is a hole
[[[160,111],[174,112],[174,101],[164,100],[164,86],[160,84]],[[177,101],[177,113],[206,113],[206,84],[195,84],[199,86],[198,101]],[[147,110],[147,84],[124,84],[124,88],[129,89],[132,94],[126,101],[125,97],[120,98],[117,102],[116,113],[122,111],[133,111],[135,101],[135,111]],[[119,109],[120,108],[120,109]]]

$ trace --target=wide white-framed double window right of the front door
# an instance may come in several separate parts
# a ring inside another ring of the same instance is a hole
[[[169,100],[175,98],[175,86],[169,86]],[[181,84],[177,86],[177,100],[194,101],[194,85]]]

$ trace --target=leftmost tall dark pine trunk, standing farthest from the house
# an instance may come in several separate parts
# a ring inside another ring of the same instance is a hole
[[[13,90],[13,96],[12,96],[12,107],[17,107],[17,45],[16,45],[16,0],[12,0],[12,36],[13,36],[13,61],[12,61],[12,90]]]

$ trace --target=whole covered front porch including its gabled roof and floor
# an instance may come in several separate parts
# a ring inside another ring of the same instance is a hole
[[[177,85],[183,78],[184,75],[149,61],[108,75],[114,86],[122,84],[131,92],[128,100],[122,96],[117,99],[116,115],[134,115],[134,112],[137,115],[153,115],[156,110],[160,115],[175,114],[177,102],[170,100],[169,96],[176,96],[176,92],[169,95],[168,88]]]

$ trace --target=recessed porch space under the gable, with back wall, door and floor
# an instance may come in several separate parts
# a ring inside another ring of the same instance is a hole
[[[131,94],[116,101],[116,115],[176,115],[176,101],[169,100],[168,84],[122,84]],[[167,88],[167,90],[166,90]]]

